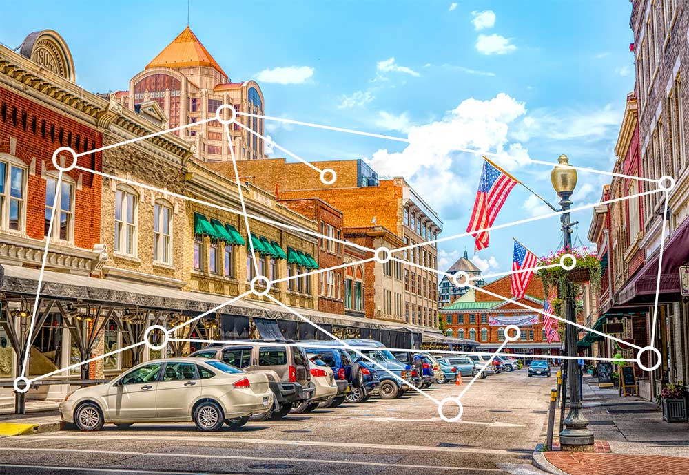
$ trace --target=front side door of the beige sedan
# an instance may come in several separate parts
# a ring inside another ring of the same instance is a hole
[[[163,363],[138,366],[127,372],[107,392],[108,419],[142,421],[156,418],[156,389]]]

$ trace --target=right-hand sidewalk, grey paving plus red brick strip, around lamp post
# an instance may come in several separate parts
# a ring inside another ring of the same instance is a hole
[[[553,447],[553,452],[535,456],[541,462],[537,465],[544,465],[540,468],[570,475],[689,473],[689,423],[666,423],[655,403],[621,397],[617,389],[600,389],[595,378],[585,376],[583,385],[584,416],[595,434],[595,452],[561,452]]]

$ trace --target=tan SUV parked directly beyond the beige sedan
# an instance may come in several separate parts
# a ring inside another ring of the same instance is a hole
[[[272,341],[251,343],[209,346],[190,356],[220,359],[245,372],[267,374],[274,403],[262,414],[251,416],[252,421],[282,419],[289,414],[292,404],[313,398],[315,388],[311,383],[311,368],[303,348]]]

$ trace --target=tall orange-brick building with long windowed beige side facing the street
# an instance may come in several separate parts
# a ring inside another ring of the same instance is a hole
[[[342,210],[345,228],[382,226],[402,240],[398,247],[411,264],[403,265],[404,321],[408,324],[438,327],[438,277],[427,270],[438,266],[435,240],[442,231],[442,220],[404,178],[379,180],[363,160],[313,162],[320,169],[337,173],[334,184],[325,185],[318,173],[302,163],[287,163],[284,158],[238,162],[240,176],[258,187],[277,190],[281,199],[318,196]],[[214,163],[210,167],[222,173],[234,173],[232,164]],[[394,313],[394,306],[392,307]],[[378,310],[374,310],[374,315]]]

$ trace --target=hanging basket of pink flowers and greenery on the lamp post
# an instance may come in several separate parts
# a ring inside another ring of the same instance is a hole
[[[573,255],[575,258],[574,267],[568,270],[560,265],[570,266],[572,264],[570,259],[563,259],[565,254]],[[563,291],[566,295],[570,295],[567,290],[569,288],[567,284],[572,282],[570,275],[581,271],[588,273],[588,280],[593,288],[597,288],[601,282],[601,262],[598,256],[586,247],[577,249],[567,246],[555,253],[550,253],[546,257],[542,257],[537,266],[542,267],[536,273],[543,282],[546,295],[550,293],[549,289],[551,287],[559,290],[559,297],[561,298],[564,297]],[[578,292],[573,292],[570,296],[575,297],[577,294]]]

